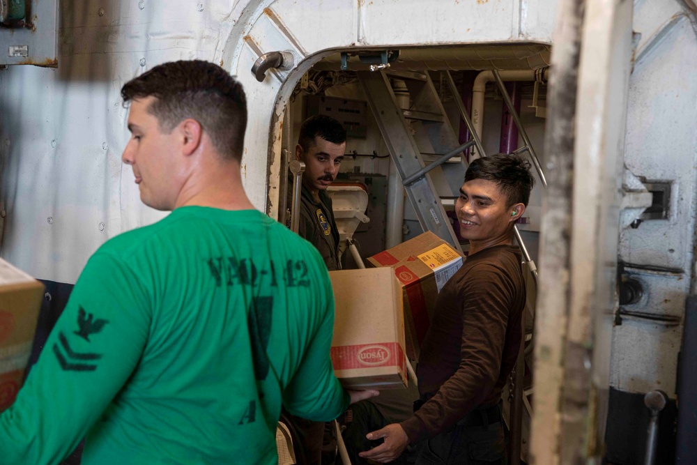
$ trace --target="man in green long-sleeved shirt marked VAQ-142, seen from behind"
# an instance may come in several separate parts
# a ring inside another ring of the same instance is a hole
[[[329,357],[333,297],[314,247],[256,211],[240,174],[242,86],[213,63],[121,89],[144,204],[172,213],[91,257],[13,406],[3,464],[276,464],[281,406],[351,400]]]

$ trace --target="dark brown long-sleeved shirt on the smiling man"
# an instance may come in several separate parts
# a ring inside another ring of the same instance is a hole
[[[429,400],[400,423],[411,443],[498,403],[518,356],[525,300],[521,253],[513,245],[470,255],[445,284],[418,367],[419,391]]]

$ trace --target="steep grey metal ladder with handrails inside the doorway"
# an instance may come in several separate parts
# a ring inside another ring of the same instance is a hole
[[[471,139],[465,144],[459,144],[459,139],[447,120],[443,103],[438,97],[429,73],[393,72],[389,70],[379,72],[360,71],[358,72],[358,80],[363,91],[365,91],[368,105],[375,116],[383,139],[385,139],[385,144],[387,144],[390,151],[390,156],[395,162],[401,177],[407,197],[411,201],[422,229],[433,232],[461,251],[459,241],[457,241],[450,225],[450,220],[448,220],[445,214],[441,198],[436,192],[431,176],[442,176],[442,172],[439,172],[441,171],[441,165],[457,155],[461,155],[461,162],[466,169],[468,165],[464,151],[470,146],[476,146],[477,153],[480,156],[486,155],[482,142],[475,132],[472,121],[462,103],[452,75],[450,75],[449,71],[441,71],[441,73],[445,77],[450,93],[452,93],[455,102],[457,102],[461,119],[465,122],[470,132]],[[513,102],[498,71],[493,70],[493,75],[505,105],[508,107],[524,142],[524,145],[514,153],[521,154],[527,151],[530,154],[539,179],[546,188],[547,183],[542,167],[539,164],[535,149],[530,143],[528,134],[525,128],[523,128],[519,115],[515,111]],[[410,109],[402,109],[397,105],[395,92],[390,85],[388,76],[405,82],[413,100]],[[415,126],[414,135],[411,134],[408,128],[408,119],[420,121],[420,124]],[[430,147],[430,149],[422,151],[420,147],[424,146]],[[426,153],[443,155],[440,155],[431,164],[426,165],[423,157]],[[533,276],[535,286],[537,286],[537,266],[535,266],[535,262],[530,257],[523,243],[518,227],[514,227],[514,235],[526,261],[527,269]],[[520,457],[523,404],[525,404],[528,413],[530,413],[530,404],[527,402],[526,393],[523,392],[525,312],[523,312],[522,327],[523,342],[521,343],[518,362],[514,369],[515,392],[512,395],[510,416],[511,424],[517,427],[512,428],[510,457]],[[516,431],[514,432],[513,429]]]

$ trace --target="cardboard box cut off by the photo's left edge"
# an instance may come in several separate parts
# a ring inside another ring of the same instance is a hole
[[[43,284],[0,259],[0,412],[15,402],[31,356]]]

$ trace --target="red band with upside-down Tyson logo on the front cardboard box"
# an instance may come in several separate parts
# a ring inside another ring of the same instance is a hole
[[[401,367],[406,372],[404,351],[397,342],[332,347],[334,369]]]

